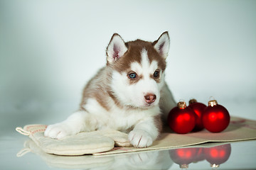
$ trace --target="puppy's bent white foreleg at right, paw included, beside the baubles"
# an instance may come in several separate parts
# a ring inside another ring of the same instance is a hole
[[[134,130],[129,132],[128,138],[134,147],[149,147],[159,136],[160,129],[155,125],[154,118],[150,117],[137,123]]]

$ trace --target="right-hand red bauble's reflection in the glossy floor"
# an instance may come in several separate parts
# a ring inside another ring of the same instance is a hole
[[[212,166],[219,166],[228,160],[231,154],[231,145],[220,145],[217,147],[204,148],[206,160]]]

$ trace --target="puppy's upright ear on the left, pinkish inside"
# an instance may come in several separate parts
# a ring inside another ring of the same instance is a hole
[[[117,61],[127,51],[124,40],[117,33],[112,35],[109,45],[107,45],[107,62]]]

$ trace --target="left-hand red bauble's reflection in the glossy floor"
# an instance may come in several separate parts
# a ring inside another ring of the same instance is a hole
[[[188,164],[194,161],[194,157],[196,157],[197,152],[198,147],[169,150],[171,160],[173,160],[173,162],[176,164],[179,164],[182,169],[188,168]]]

